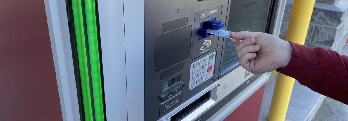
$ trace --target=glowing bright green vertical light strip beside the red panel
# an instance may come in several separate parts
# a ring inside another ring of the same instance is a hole
[[[71,2],[85,120],[104,121],[95,0],[71,0]],[[83,6],[85,10],[83,10]],[[89,71],[90,75],[88,74]],[[92,83],[89,82],[90,80]]]

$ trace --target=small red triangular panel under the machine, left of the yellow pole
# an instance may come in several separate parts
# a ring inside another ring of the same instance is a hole
[[[266,84],[238,106],[224,121],[258,121]]]

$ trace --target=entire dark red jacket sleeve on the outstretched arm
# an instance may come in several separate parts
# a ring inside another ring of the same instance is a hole
[[[348,56],[289,42],[293,47],[290,62],[278,72],[295,78],[315,92],[348,104]]]

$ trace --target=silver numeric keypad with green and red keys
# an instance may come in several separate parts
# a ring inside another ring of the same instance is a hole
[[[189,90],[208,80],[214,73],[216,52],[191,64]]]

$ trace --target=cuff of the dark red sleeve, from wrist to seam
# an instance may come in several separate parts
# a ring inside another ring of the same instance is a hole
[[[317,63],[318,53],[314,48],[288,41],[292,46],[290,62],[277,72],[290,76],[300,83],[305,82],[313,74]]]

